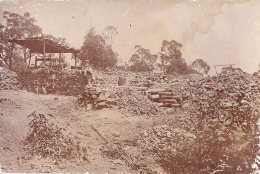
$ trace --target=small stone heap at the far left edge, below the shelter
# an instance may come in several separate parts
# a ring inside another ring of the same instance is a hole
[[[0,89],[20,89],[20,82],[17,74],[0,67]]]

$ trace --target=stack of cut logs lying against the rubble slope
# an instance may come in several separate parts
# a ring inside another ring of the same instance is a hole
[[[173,92],[166,88],[155,88],[148,90],[148,97],[158,103],[160,107],[181,107],[183,96],[174,96]]]

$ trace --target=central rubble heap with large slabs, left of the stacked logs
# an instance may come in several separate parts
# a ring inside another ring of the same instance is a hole
[[[86,107],[87,110],[110,107],[142,116],[160,113],[158,105],[144,96],[142,91],[116,86],[104,88],[101,85],[87,85],[78,96],[77,104]]]

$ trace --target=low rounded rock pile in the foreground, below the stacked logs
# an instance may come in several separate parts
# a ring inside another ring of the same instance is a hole
[[[185,147],[194,143],[196,136],[185,130],[167,125],[159,125],[145,130],[138,139],[143,156],[150,154],[160,158],[173,158],[183,155]]]

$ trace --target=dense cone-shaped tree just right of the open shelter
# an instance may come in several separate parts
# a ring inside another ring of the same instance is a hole
[[[91,27],[84,38],[82,53],[79,54],[79,59],[83,62],[89,60],[92,68],[105,70],[113,67],[117,62],[118,54],[115,53],[111,47],[106,47],[105,40],[96,34],[95,28]]]

